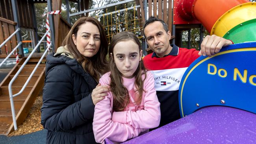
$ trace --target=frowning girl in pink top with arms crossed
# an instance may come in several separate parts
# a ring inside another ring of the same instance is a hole
[[[137,137],[160,122],[160,103],[154,78],[141,61],[139,39],[132,32],[115,35],[109,46],[110,72],[100,78],[109,85],[104,100],[95,105],[93,132],[96,142],[105,138],[124,142]]]

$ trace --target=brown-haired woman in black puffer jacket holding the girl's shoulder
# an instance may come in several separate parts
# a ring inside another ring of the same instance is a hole
[[[93,114],[109,91],[98,80],[108,71],[108,42],[100,22],[82,17],[56,54],[46,58],[41,124],[52,144],[96,143]]]

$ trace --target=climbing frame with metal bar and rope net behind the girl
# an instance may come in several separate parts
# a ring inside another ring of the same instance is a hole
[[[131,4],[131,2],[134,2]],[[129,4],[128,4],[129,3]],[[123,4],[124,9],[117,9],[117,5]],[[132,5],[131,7],[126,7],[127,5]],[[109,7],[115,6],[115,11],[108,11]],[[140,7],[140,5],[136,5],[135,0],[124,0],[121,2],[116,2],[113,4],[108,4],[106,6],[94,8],[94,9],[87,9],[85,11],[80,11],[78,13],[72,13],[69,14],[70,17],[75,15],[81,15],[84,13],[93,12],[100,9],[106,9],[106,13],[101,15],[94,16],[96,19],[98,19],[102,26],[104,27],[106,31],[106,36],[108,39],[108,42],[110,42],[111,37],[115,33],[119,33],[120,31],[132,31],[134,32],[139,39],[143,38],[143,35],[141,33],[142,31],[142,20],[141,18],[138,18],[137,10]]]

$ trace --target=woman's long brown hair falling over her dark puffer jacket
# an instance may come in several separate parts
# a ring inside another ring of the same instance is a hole
[[[93,57],[85,57],[76,48],[76,45],[73,42],[72,35],[74,34],[77,37],[77,31],[82,24],[86,22],[91,22],[95,26],[98,27],[100,31],[100,48]],[[108,72],[108,61],[107,61],[107,54],[108,54],[108,41],[106,39],[106,34],[102,25],[98,20],[93,17],[82,17],[79,18],[72,28],[70,29],[69,33],[65,37],[64,41],[62,42],[63,46],[67,46],[69,52],[72,56],[80,63],[83,69],[91,74],[91,76],[98,82],[100,79],[100,74],[105,74]]]

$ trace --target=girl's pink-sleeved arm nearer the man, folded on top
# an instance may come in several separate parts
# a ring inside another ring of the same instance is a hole
[[[147,72],[145,79],[144,110],[114,112],[113,122],[129,124],[134,128],[150,129],[159,126],[160,123],[160,103],[154,88],[154,78]]]

